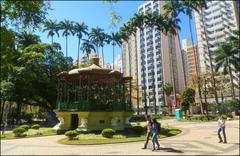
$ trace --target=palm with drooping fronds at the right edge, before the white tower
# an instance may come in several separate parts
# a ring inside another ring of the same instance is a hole
[[[224,74],[228,73],[230,75],[232,98],[235,99],[232,67],[235,69],[239,69],[240,67],[239,58],[236,56],[238,50],[235,49],[231,43],[223,43],[218,46],[218,49],[214,51],[214,54],[216,56],[216,70],[218,71],[223,67]]]

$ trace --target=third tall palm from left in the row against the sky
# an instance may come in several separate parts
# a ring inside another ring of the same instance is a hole
[[[79,53],[80,53],[80,43],[81,43],[81,39],[83,37],[83,35],[88,35],[88,26],[85,23],[75,23],[74,25],[74,32],[78,37],[78,63],[77,65],[79,65]]]

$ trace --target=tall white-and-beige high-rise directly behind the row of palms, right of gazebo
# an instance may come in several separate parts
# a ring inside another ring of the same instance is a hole
[[[164,1],[147,1],[138,12],[163,12]],[[182,59],[177,36],[164,35],[155,28],[138,30],[128,43],[122,45],[123,72],[133,77],[142,90],[142,106],[145,98],[149,111],[159,112],[164,105],[163,83],[175,83],[176,91],[184,87]],[[138,73],[138,74],[137,74]]]

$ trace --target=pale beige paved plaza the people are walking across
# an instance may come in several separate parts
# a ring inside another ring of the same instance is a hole
[[[62,145],[63,135],[1,140],[1,155],[239,155],[239,120],[226,122],[227,144],[218,143],[216,122],[162,121],[182,133],[160,139],[161,149],[143,150],[144,142],[105,145]]]

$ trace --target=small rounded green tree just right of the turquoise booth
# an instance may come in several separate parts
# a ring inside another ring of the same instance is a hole
[[[184,89],[181,96],[181,108],[186,115],[186,111],[189,110],[189,107],[193,105],[195,101],[195,91],[192,88]]]

